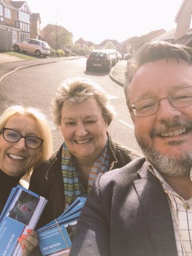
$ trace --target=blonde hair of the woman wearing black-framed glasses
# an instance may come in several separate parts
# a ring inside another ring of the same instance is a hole
[[[5,127],[7,121],[15,115],[24,115],[33,118],[40,130],[41,139],[44,140],[40,148],[39,159],[34,163],[34,166],[26,170],[26,175],[30,176],[31,171],[35,167],[39,166],[42,162],[48,160],[52,154],[51,131],[49,129],[47,120],[42,113],[32,107],[25,108],[23,106],[15,105],[7,108],[3,115],[0,117],[0,133],[2,133],[3,127]]]

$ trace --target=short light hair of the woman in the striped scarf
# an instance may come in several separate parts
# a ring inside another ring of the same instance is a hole
[[[113,107],[109,105],[105,90],[90,79],[81,77],[63,81],[57,88],[56,95],[51,102],[53,122],[57,127],[61,126],[63,104],[71,106],[74,103],[82,103],[87,99],[95,99],[101,107],[102,116],[107,119],[108,125],[114,115]]]

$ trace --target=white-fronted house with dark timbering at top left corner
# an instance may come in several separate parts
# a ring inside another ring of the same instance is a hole
[[[30,37],[30,15],[27,2],[0,0],[0,29],[12,32],[12,43]]]

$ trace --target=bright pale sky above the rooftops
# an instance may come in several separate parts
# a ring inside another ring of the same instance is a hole
[[[32,12],[41,15],[42,26],[55,23],[73,33],[73,42],[99,44],[105,39],[122,42],[152,30],[176,28],[175,16],[182,0],[26,0]]]

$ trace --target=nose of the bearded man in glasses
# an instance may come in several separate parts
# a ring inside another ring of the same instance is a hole
[[[168,98],[161,99],[159,104],[160,106],[157,113],[158,114],[157,119],[159,122],[162,123],[165,121],[167,123],[170,123],[174,119],[181,118],[182,113],[180,111],[180,108],[172,106]]]

